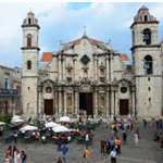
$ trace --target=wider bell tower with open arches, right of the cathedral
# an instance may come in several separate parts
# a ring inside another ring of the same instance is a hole
[[[161,115],[160,45],[155,17],[142,5],[131,24],[133,65],[136,82],[136,114],[151,117]]]

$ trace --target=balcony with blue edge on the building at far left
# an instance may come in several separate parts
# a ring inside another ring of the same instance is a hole
[[[16,97],[18,91],[16,89],[0,88],[0,97]]]

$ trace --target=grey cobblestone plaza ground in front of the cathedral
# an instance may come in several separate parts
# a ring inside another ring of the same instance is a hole
[[[127,146],[121,147],[122,154],[117,155],[117,163],[163,163],[163,149],[154,147],[153,134],[162,133],[163,129],[156,129],[155,126],[150,126],[149,123],[147,127],[142,127],[140,122],[134,125],[134,131],[137,127],[140,127],[140,139],[138,148],[134,143],[134,133],[127,134]],[[122,140],[122,133],[117,134]],[[109,163],[111,162],[109,155],[100,153],[100,140],[109,139],[111,140],[111,129],[105,128],[105,124],[101,124],[95,129],[95,137],[92,146],[89,146],[89,151],[92,153],[89,155],[90,163]],[[0,142],[0,163],[3,163],[4,153],[8,147],[12,143]],[[83,156],[85,145],[76,143],[76,140],[67,143],[67,163],[84,163],[85,159]],[[27,163],[55,163],[58,156],[61,153],[58,152],[58,146],[55,143],[21,143],[17,142],[16,148],[22,151],[24,150],[27,154]]]

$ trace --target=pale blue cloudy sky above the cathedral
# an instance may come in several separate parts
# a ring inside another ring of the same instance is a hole
[[[156,17],[159,41],[163,39],[162,2],[0,2],[0,64],[22,66],[22,23],[30,8],[40,25],[39,59],[42,52],[58,51],[63,43],[87,36],[103,42],[111,39],[112,49],[131,59],[134,16],[141,5]]]

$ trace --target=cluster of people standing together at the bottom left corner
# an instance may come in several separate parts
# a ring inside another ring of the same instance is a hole
[[[22,154],[20,153],[18,149],[14,146],[12,149],[12,146],[8,148],[8,151],[4,155],[5,163],[26,163],[27,155],[24,151],[22,151]]]

